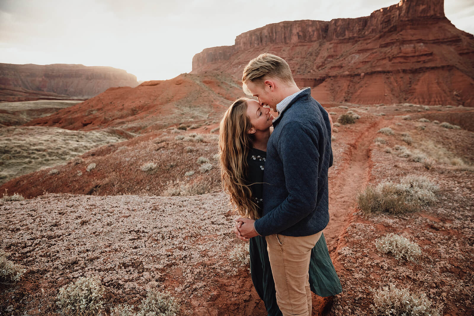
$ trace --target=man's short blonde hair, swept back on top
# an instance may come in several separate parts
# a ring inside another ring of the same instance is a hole
[[[244,68],[242,75],[243,89],[252,94],[247,88],[247,82],[264,81],[265,77],[276,77],[288,83],[294,83],[290,66],[282,57],[263,53],[252,59]]]

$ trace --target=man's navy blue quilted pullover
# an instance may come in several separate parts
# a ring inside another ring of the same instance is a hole
[[[264,172],[263,217],[259,235],[308,236],[329,222],[328,168],[332,165],[331,126],[326,110],[298,94],[273,122]]]

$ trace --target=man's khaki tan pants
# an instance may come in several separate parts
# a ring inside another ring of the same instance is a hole
[[[322,231],[310,236],[266,236],[268,257],[275,281],[276,302],[284,316],[310,316],[312,310],[310,290],[311,249]]]

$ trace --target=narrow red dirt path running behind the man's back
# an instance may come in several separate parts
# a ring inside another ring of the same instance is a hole
[[[383,119],[373,122],[354,143],[349,144],[349,160],[329,180],[329,224],[324,230],[331,257],[337,255],[341,237],[350,224],[356,208],[357,193],[369,182],[371,161],[370,145],[382,127]]]

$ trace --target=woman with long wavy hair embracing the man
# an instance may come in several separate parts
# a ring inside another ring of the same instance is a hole
[[[253,99],[237,99],[220,122],[221,179],[230,202],[241,217],[262,216],[263,172],[266,144],[272,132],[273,115]],[[268,315],[282,315],[275,296],[272,269],[265,237],[250,238],[250,273],[255,290]],[[310,288],[319,296],[341,292],[341,284],[329,257],[324,235],[311,250]]]

